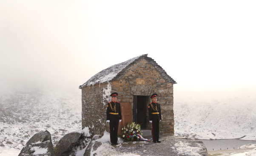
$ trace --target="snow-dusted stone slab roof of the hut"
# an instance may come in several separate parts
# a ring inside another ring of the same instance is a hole
[[[80,85],[79,88],[82,89],[85,86],[95,85],[99,83],[111,82],[118,80],[124,75],[133,64],[137,63],[138,61],[145,59],[149,63],[151,63],[157,71],[164,77],[167,82],[176,83],[174,79],[172,79],[165,70],[159,66],[156,61],[154,61],[151,57],[148,57],[148,54],[139,55],[137,57],[131,58],[125,62],[110,66],[99,73],[95,74],[93,77],[88,79],[83,85]]]

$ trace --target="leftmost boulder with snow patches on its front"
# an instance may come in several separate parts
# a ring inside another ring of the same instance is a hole
[[[50,132],[40,131],[34,134],[18,156],[54,156]]]

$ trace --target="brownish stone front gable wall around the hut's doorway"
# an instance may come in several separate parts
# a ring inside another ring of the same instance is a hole
[[[132,109],[134,95],[151,96],[157,93],[157,101],[161,104],[162,113],[160,134],[174,134],[173,84],[165,82],[162,75],[148,60],[142,59],[134,63],[122,79],[112,82],[111,89],[112,92],[119,93],[119,102],[131,103]]]

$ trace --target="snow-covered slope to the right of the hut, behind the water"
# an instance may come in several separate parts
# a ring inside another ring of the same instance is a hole
[[[174,103],[175,135],[202,140],[256,140],[256,95],[190,101]]]

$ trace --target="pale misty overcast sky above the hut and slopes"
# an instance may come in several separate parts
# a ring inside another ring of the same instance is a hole
[[[78,89],[94,74],[148,54],[174,98],[256,91],[254,0],[0,0],[1,84]]]

